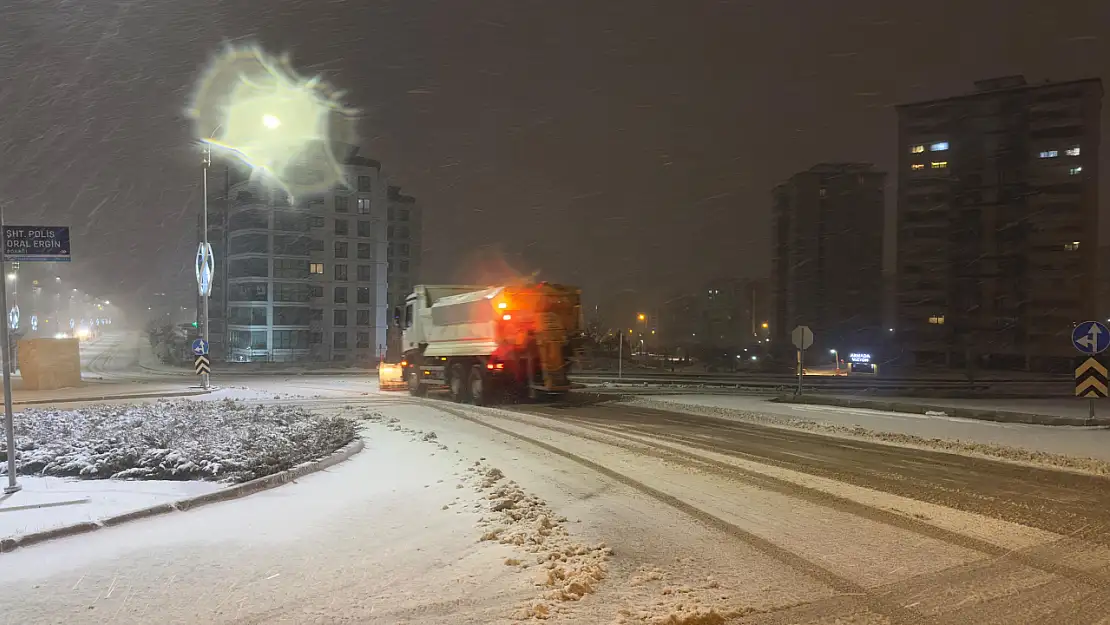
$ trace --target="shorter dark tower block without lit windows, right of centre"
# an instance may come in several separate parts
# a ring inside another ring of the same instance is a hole
[[[870,164],[821,163],[775,188],[769,330],[784,356],[798,325],[815,350],[877,350],[885,184]]]

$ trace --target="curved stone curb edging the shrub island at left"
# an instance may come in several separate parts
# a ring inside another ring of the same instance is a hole
[[[293,468],[289,468],[286,471],[282,471],[279,473],[264,475],[262,477],[251,480],[250,482],[243,482],[241,484],[228,486],[226,488],[221,488],[213,493],[205,493],[203,495],[198,495],[194,497],[186,497],[175,502],[159,504],[142,510],[125,512],[123,514],[108,516],[99,521],[84,521],[81,523],[74,523],[71,525],[64,525],[61,527],[44,530],[42,532],[32,532],[30,534],[23,534],[21,536],[9,536],[7,538],[0,538],[0,553],[7,553],[16,550],[17,547],[26,547],[46,541],[52,541],[54,538],[62,538],[65,536],[84,534],[103,527],[114,527],[117,525],[122,525],[131,521],[150,518],[152,516],[158,516],[171,512],[186,511],[206,504],[213,504],[216,502],[245,497],[246,495],[251,495],[260,491],[265,491],[269,488],[281,486],[282,484],[286,484],[299,477],[303,477],[304,475],[307,475],[310,473],[315,473],[317,471],[323,471],[325,468],[335,466],[336,464],[345,460],[349,460],[351,456],[361,452],[363,450],[363,446],[364,446],[363,440],[361,437],[356,437],[346,445],[344,445],[343,447],[340,447],[339,450],[332,452],[330,455],[324,456],[320,460],[306,462],[304,464],[300,464],[297,466],[294,466]]]

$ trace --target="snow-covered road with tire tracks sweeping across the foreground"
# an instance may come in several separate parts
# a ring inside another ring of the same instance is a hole
[[[373,413],[366,450],[0,556],[10,622],[1104,623],[1103,478],[637,406],[295,382],[319,392],[263,401]]]

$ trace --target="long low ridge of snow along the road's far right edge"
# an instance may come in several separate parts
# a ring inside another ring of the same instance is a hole
[[[961,454],[977,454],[999,460],[1007,460],[1011,462],[1021,462],[1028,464],[1037,464],[1041,466],[1049,466],[1052,468],[1068,468],[1072,471],[1080,471],[1083,473],[1091,473],[1094,475],[1110,475],[1110,463],[1092,457],[1068,456],[1062,454],[1040,452],[1036,450],[1010,447],[1007,445],[976,443],[973,441],[960,441],[958,438],[925,438],[922,436],[915,436],[912,434],[900,434],[897,432],[877,432],[874,430],[861,427],[859,425],[855,426],[838,425],[835,423],[809,421],[806,419],[797,419],[789,416],[777,416],[768,413],[756,413],[756,412],[748,412],[748,411],[727,409],[720,406],[685,404],[679,402],[648,400],[642,397],[625,399],[624,401],[622,401],[622,403],[635,406],[642,406],[646,409],[669,411],[669,412],[685,412],[689,414],[700,414],[705,416],[734,419],[739,421],[746,421],[748,423],[757,423],[764,425],[795,427],[798,430],[806,430],[809,432],[817,432],[823,434],[833,434],[836,436],[852,436],[858,438],[868,438],[871,441],[879,441],[882,443],[890,443],[895,445],[908,445],[908,446],[939,450],[944,452],[953,452]]]

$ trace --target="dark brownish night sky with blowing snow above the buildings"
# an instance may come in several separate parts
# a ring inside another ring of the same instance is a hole
[[[635,306],[766,275],[770,189],[819,161],[891,170],[892,104],[1107,80],[1108,24],[1106,0],[13,0],[0,202],[72,224],[90,292],[189,302],[183,110],[221,46],[255,41],[364,111],[363,153],[425,206],[425,281],[504,262]]]

